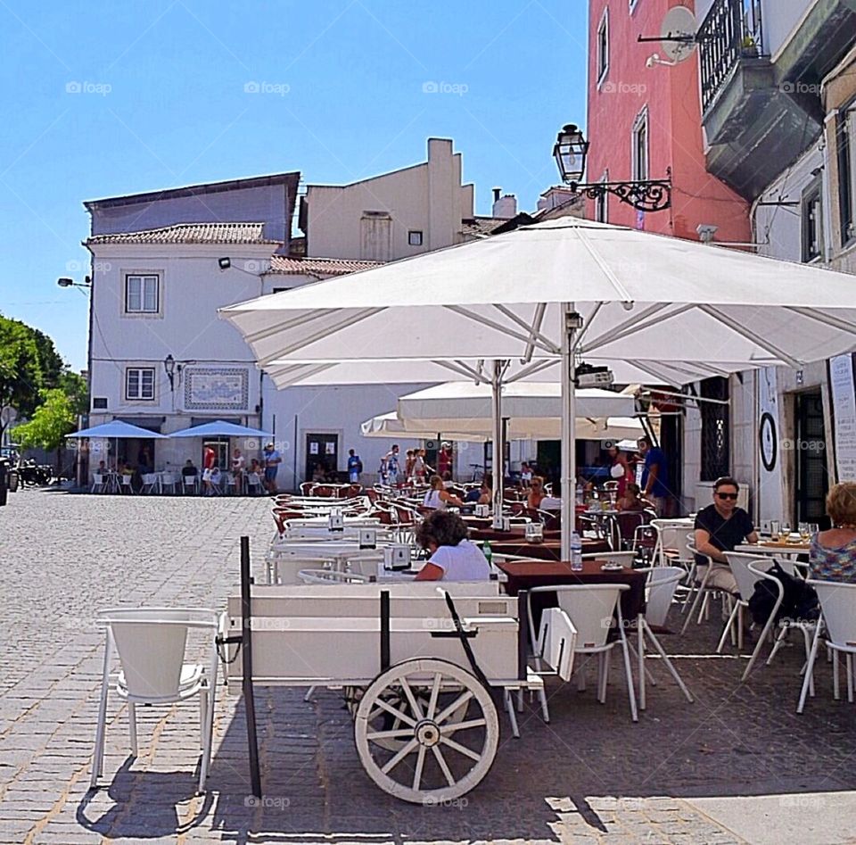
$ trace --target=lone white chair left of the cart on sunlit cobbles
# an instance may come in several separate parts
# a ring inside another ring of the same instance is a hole
[[[174,704],[199,696],[202,748],[199,791],[203,791],[210,766],[214,723],[218,614],[214,610],[196,608],[121,608],[100,611],[96,624],[105,629],[106,639],[90,787],[94,789],[103,774],[107,696],[111,688],[110,667],[115,648],[119,653],[121,671],[113,690],[120,699],[128,702],[130,746],[134,757],[138,753],[137,704]],[[202,630],[209,638],[207,665],[185,663],[187,632],[192,628]]]

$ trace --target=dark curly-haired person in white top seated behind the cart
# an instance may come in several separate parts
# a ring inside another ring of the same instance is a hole
[[[466,525],[456,513],[435,510],[416,527],[416,543],[431,552],[416,581],[487,581],[490,564],[466,539]]]

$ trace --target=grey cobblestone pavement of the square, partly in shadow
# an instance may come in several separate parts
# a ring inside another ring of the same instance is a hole
[[[243,708],[222,687],[206,796],[194,794],[195,706],[141,710],[132,760],[115,697],[105,785],[87,792],[103,648],[95,610],[222,608],[241,534],[259,571],[267,510],[261,499],[37,491],[0,509],[0,842],[856,842],[856,706],[832,700],[824,665],[817,698],[796,716],[800,644],[738,683],[745,658],[709,656],[713,619],[662,638],[695,704],[654,665],[661,683],[633,725],[617,659],[605,705],[592,683],[548,683],[551,724],[528,709],[514,740],[504,721],[490,774],[455,806],[386,796],[359,765],[341,698],[304,702],[278,688],[257,693],[260,805],[247,799]]]

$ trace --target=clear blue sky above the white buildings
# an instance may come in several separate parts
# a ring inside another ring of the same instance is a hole
[[[350,182],[450,137],[477,213],[493,186],[534,208],[556,131],[585,120],[586,7],[0,0],[0,312],[86,366],[86,296],[56,279],[86,275],[87,199],[286,170]]]

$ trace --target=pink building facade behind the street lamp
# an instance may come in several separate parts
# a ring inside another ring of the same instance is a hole
[[[589,201],[587,216],[665,235],[699,240],[699,227],[715,227],[717,243],[751,238],[748,204],[705,170],[698,62],[675,67],[658,36],[672,6],[694,0],[589,0],[587,182],[667,178],[671,209],[642,213],[616,197]],[[648,66],[651,64],[652,66]]]

